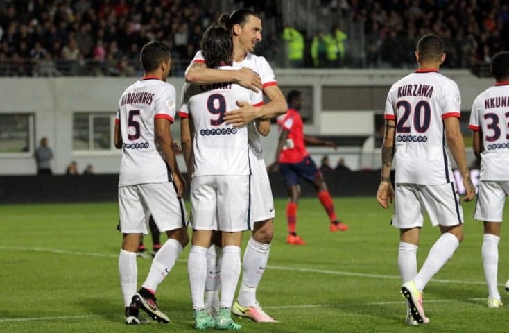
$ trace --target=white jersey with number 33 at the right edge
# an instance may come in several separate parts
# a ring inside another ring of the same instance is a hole
[[[481,130],[481,180],[509,180],[509,83],[497,83],[472,105],[469,128]]]

